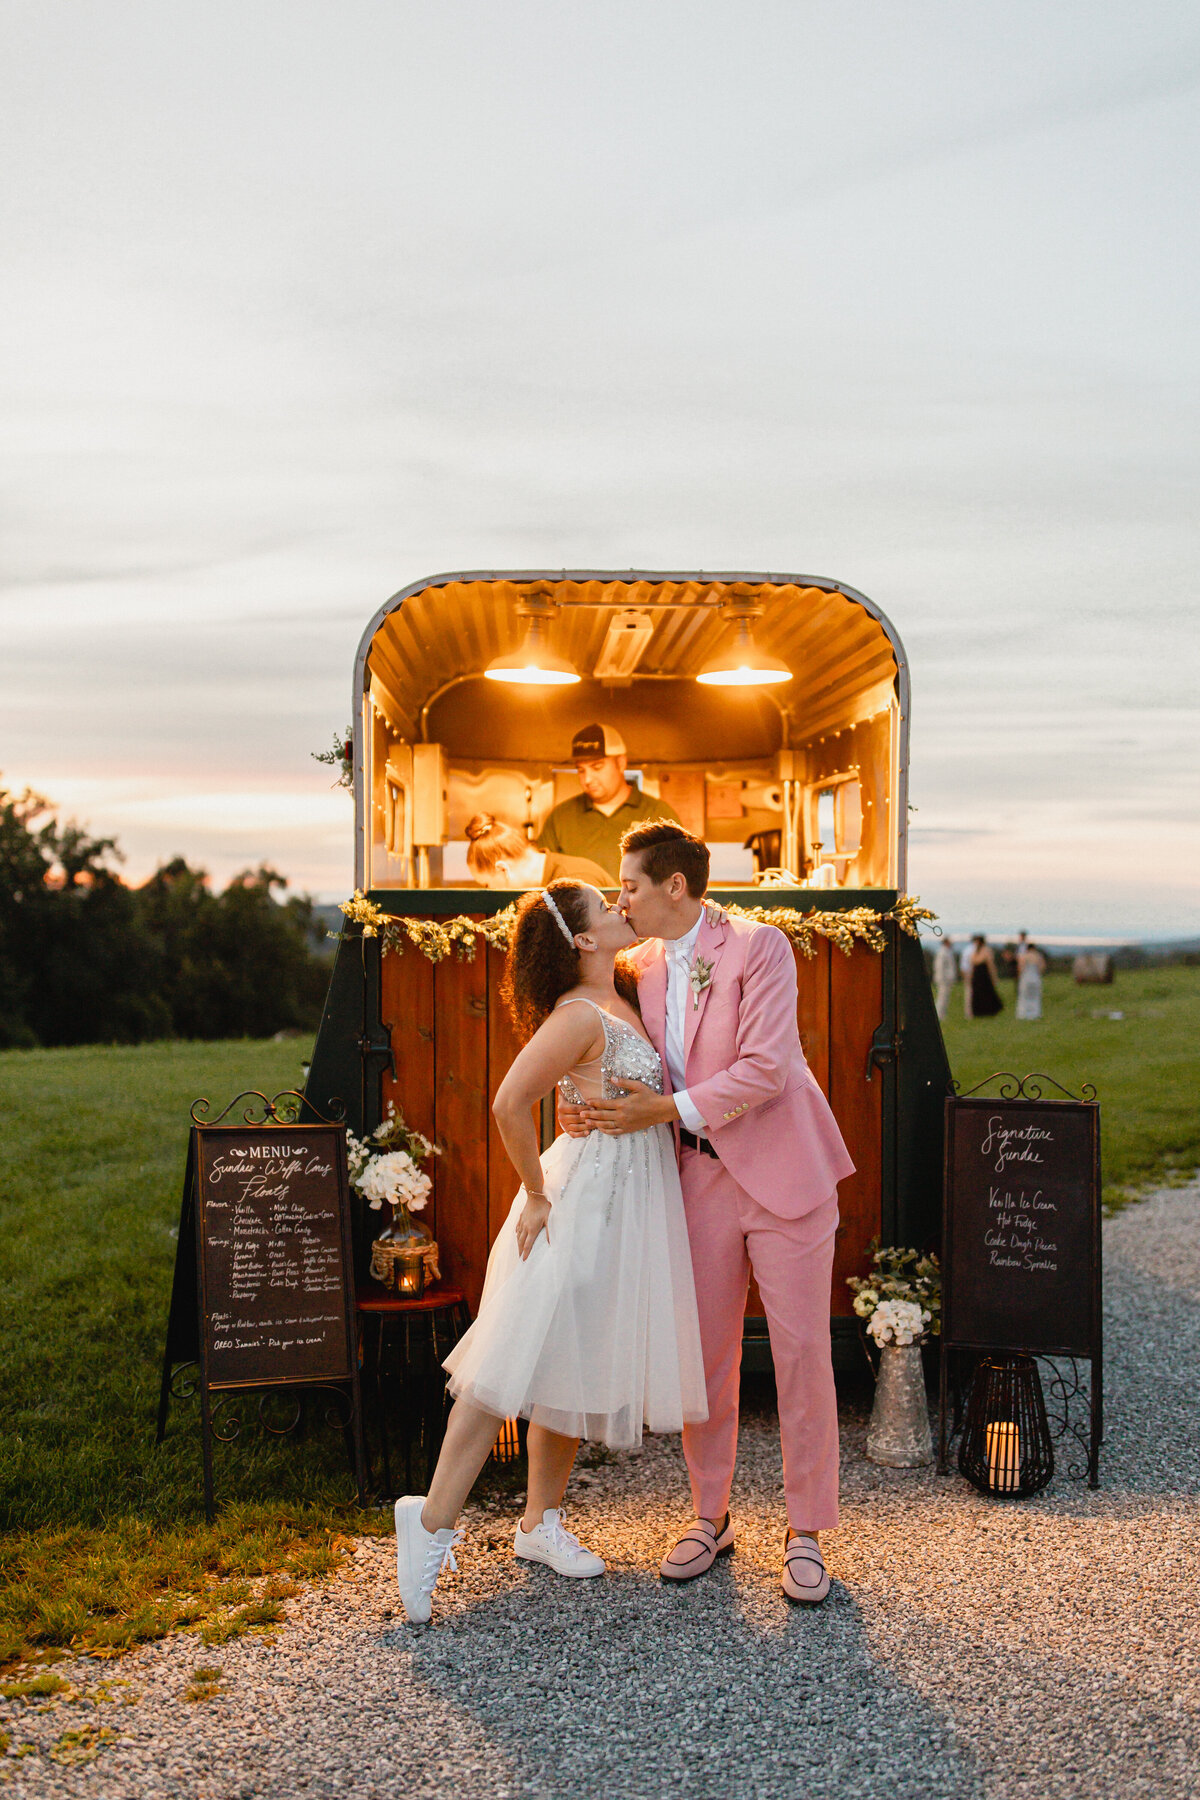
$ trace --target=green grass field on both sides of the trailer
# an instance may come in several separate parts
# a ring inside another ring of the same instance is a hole
[[[955,1075],[1092,1080],[1114,1199],[1200,1165],[1200,970],[1047,981],[1047,1017],[946,1022]],[[1123,1019],[1108,1019],[1123,1012]],[[187,1107],[300,1080],[304,1040],[0,1055],[0,1661],[117,1652],[173,1629],[264,1629],[288,1577],[380,1525],[351,1505],[340,1433],[218,1445],[203,1523],[194,1413],[153,1442]],[[383,1523],[387,1519],[383,1517]]]

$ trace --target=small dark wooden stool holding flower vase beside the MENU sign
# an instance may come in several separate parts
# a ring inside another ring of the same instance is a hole
[[[392,1454],[387,1431],[385,1381],[394,1379],[401,1399],[405,1445],[405,1492],[412,1487],[412,1422],[425,1451],[426,1476],[434,1471],[446,1429],[446,1390],[441,1361],[470,1325],[461,1287],[437,1282],[421,1298],[396,1294],[381,1282],[365,1280],[356,1296],[363,1388],[372,1395],[380,1427],[383,1485],[392,1498]],[[392,1368],[387,1368],[387,1361]]]

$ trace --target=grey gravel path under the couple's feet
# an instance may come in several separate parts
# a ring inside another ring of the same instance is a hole
[[[738,1553],[694,1588],[653,1573],[687,1498],[678,1444],[648,1440],[569,1494],[570,1523],[610,1561],[604,1580],[515,1564],[511,1512],[479,1508],[461,1577],[414,1631],[396,1616],[389,1543],[363,1539],[345,1579],[288,1602],[273,1642],[205,1651],[184,1636],[119,1663],[59,1663],[112,1697],[0,1705],[13,1737],[0,1787],[36,1800],[1195,1796],[1198,1220],[1200,1181],[1105,1228],[1096,1494],[1058,1474],[1006,1505],[957,1476],[874,1469],[851,1399],[835,1584],[802,1613],[777,1588],[777,1433],[752,1406]],[[223,1690],[189,1705],[198,1663],[221,1665]],[[101,1730],[113,1735],[97,1748]],[[54,1746],[97,1753],[72,1764]]]

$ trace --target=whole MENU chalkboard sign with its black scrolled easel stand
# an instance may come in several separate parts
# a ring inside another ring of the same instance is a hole
[[[239,1125],[205,1123],[207,1102],[193,1107],[158,1440],[171,1395],[189,1397],[198,1386],[205,1510],[212,1517],[210,1397],[255,1388],[333,1390],[344,1393],[362,1503],[345,1127],[299,1123],[300,1094],[239,1094],[219,1118],[243,1100],[255,1105]],[[180,1379],[191,1366],[198,1366],[198,1381]]]

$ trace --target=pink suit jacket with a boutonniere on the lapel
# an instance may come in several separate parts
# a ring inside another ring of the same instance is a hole
[[[651,938],[631,954],[642,1019],[669,1089],[666,949]],[[801,1219],[855,1165],[804,1062],[792,945],[775,925],[734,914],[716,923],[705,907],[700,958],[712,965],[712,977],[685,999],[687,1093],[734,1181],[779,1219]]]

